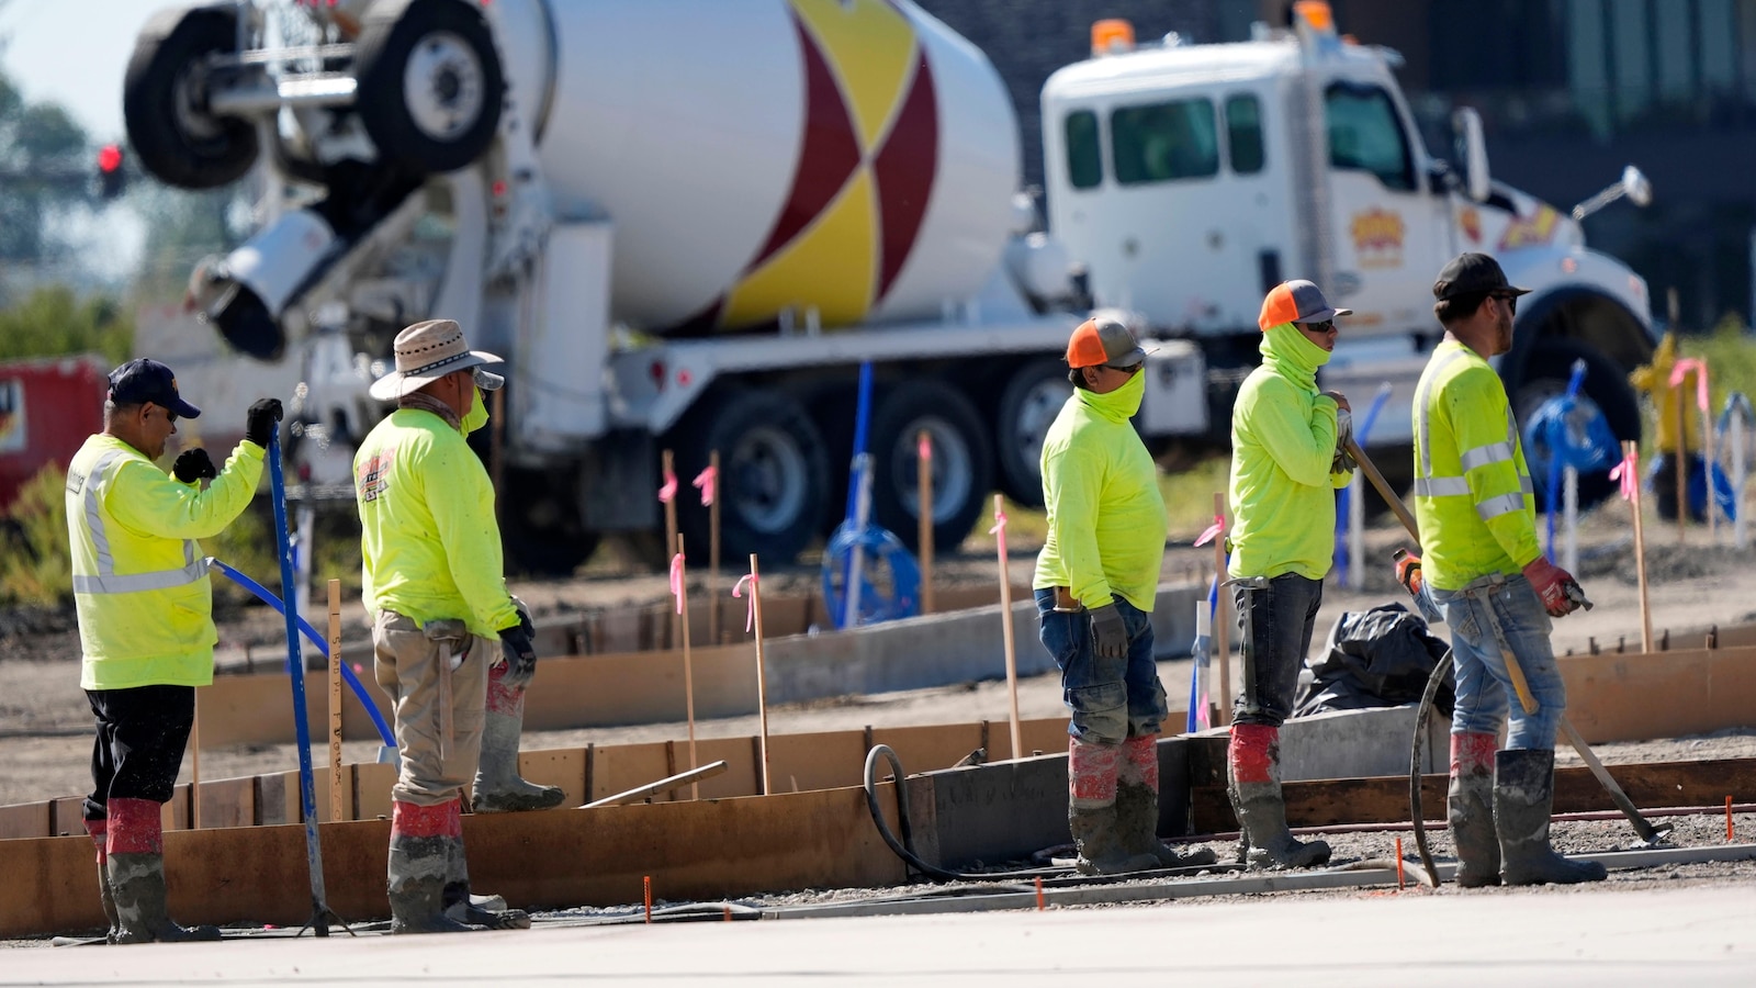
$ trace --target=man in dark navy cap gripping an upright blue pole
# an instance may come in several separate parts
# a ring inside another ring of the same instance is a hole
[[[223,469],[200,447],[167,476],[153,461],[177,418],[200,410],[158,360],[109,374],[104,431],[67,466],[67,540],[79,614],[79,687],[97,716],[86,832],[97,847],[109,941],[218,941],[165,912],[160,832],[195,724],[195,687],[214,679],[212,585],[195,540],[225,531],[249,505],[281,403],[249,406],[244,441]],[[202,480],[209,480],[202,489]]]

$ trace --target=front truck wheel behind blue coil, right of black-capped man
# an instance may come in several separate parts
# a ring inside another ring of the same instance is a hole
[[[1628,385],[1628,374],[1591,346],[1563,338],[1535,341],[1524,360],[1524,380],[1517,387],[1508,389],[1512,392],[1512,415],[1519,422],[1519,431],[1522,432],[1524,424],[1529,422],[1544,401],[1566,394],[1566,380],[1573,373],[1573,360],[1586,362],[1586,381],[1579,389],[1580,401],[1594,404],[1603,413],[1603,420],[1608,424],[1610,432],[1616,432],[1617,440],[1638,440],[1640,404]],[[1531,483],[1536,487],[1536,510],[1542,512],[1549,483],[1549,462],[1538,462],[1531,450],[1524,450],[1524,457],[1531,471]],[[1579,478],[1580,508],[1593,506],[1614,492],[1616,482],[1610,480],[1608,471],[1586,473]]]

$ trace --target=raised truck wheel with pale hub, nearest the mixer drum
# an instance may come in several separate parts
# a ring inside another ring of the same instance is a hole
[[[506,79],[481,12],[458,0],[379,0],[355,49],[355,107],[383,160],[451,172],[500,125]]]

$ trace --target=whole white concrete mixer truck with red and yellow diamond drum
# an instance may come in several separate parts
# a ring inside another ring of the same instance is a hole
[[[1479,128],[1461,179],[1429,158],[1391,54],[1303,7],[1249,44],[1101,25],[1043,88],[1047,218],[997,72],[910,0],[174,9],[137,40],[125,118],[170,185],[263,183],[262,229],[188,301],[244,357],[299,366],[313,480],[346,482],[404,323],[451,316],[506,355],[492,455],[536,570],[658,529],[664,448],[685,482],[720,454],[734,559],[795,556],[839,519],[864,362],[874,520],[913,541],[925,431],[952,545],[996,487],[1040,503],[1061,352],[1094,306],[1155,339],[1141,434],[1222,443],[1282,278],[1361,313],[1331,387],[1398,387],[1373,440],[1405,443],[1426,281],[1472,246],[1538,290],[1519,318],[1542,332],[1505,364],[1519,401],[1582,357],[1635,434],[1644,283],[1491,185]]]

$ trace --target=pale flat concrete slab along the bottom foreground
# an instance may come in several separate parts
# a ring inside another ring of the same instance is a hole
[[[1531,890],[1271,897],[1234,902],[537,928],[451,937],[270,939],[104,949],[16,949],[9,983],[1045,984],[1177,970],[1234,984],[1756,983],[1747,888]],[[1663,921],[1654,923],[1654,918]],[[1301,949],[1299,930],[1371,930],[1370,946]],[[1264,930],[1284,934],[1277,949]],[[1470,930],[1468,937],[1445,930]],[[1069,948],[1071,944],[1092,944]],[[1101,944],[1101,946],[1098,946]],[[1266,949],[1264,949],[1266,946]]]

